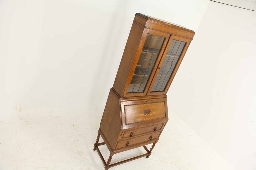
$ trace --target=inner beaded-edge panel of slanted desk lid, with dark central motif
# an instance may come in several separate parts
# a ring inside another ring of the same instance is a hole
[[[153,119],[165,118],[165,103],[142,103],[134,105],[125,105],[125,124],[134,124]]]

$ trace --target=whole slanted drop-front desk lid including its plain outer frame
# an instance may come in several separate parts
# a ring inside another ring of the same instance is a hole
[[[121,102],[121,107],[124,117],[123,121],[126,126],[136,123],[141,124],[147,121],[152,122],[154,120],[159,120],[155,121],[155,123],[161,123],[167,119],[166,98],[125,101]],[[141,124],[141,126],[143,125]]]

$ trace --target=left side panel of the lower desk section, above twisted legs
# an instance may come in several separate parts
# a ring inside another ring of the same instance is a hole
[[[100,122],[100,129],[111,148],[114,149],[122,125],[119,98],[112,90],[110,90],[108,95],[108,100]]]

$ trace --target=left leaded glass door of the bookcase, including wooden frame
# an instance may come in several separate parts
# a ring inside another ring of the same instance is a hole
[[[126,96],[146,95],[169,37],[169,34],[147,29],[144,43],[134,59],[137,64],[132,67]]]

